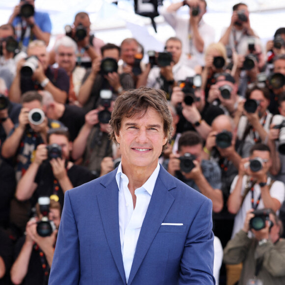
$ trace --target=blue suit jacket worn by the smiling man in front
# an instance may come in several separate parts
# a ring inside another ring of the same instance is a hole
[[[65,193],[50,285],[126,285],[115,174]],[[215,284],[211,216],[211,200],[160,166],[128,285]]]

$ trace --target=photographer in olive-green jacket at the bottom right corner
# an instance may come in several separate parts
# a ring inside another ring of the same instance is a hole
[[[283,226],[274,211],[263,210],[269,212],[266,219],[263,218],[264,228],[254,229],[250,226],[256,216],[253,209],[248,210],[242,229],[224,249],[226,264],[243,262],[238,284],[285,284],[285,240],[280,238]],[[254,237],[248,237],[249,231]]]

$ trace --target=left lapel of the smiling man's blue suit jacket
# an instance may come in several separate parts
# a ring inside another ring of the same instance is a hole
[[[103,227],[107,242],[112,252],[114,261],[123,282],[126,284],[126,277],[121,253],[119,211],[118,211],[118,186],[115,179],[116,171],[104,176],[101,184],[106,187],[97,195],[98,206],[101,214]]]

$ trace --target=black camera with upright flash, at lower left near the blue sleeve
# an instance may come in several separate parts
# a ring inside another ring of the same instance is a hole
[[[51,200],[49,197],[40,197],[38,199],[40,212],[43,217],[39,222],[37,222],[37,233],[42,237],[50,236],[56,229],[55,223],[53,221],[50,221],[48,218],[50,211],[50,202]]]

